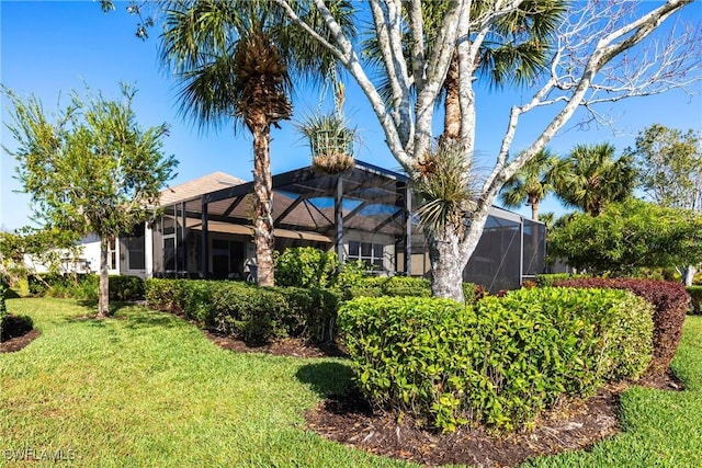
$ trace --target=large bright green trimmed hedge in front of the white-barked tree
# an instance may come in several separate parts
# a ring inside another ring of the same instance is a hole
[[[564,395],[636,378],[653,307],[627,292],[531,288],[475,307],[423,297],[356,298],[339,326],[355,381],[376,409],[452,432],[513,430]]]

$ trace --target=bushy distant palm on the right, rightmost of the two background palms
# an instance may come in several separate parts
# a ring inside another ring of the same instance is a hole
[[[632,158],[614,159],[610,144],[578,145],[552,172],[556,195],[565,205],[598,216],[611,202],[632,195],[636,169]]]

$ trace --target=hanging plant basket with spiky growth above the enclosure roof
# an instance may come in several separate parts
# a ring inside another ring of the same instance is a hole
[[[299,126],[309,141],[312,165],[325,174],[338,174],[353,168],[355,129],[337,114],[314,115]]]

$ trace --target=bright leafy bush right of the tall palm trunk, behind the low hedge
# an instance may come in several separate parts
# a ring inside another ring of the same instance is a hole
[[[288,248],[275,258],[279,286],[329,287],[337,281],[339,259],[335,252],[314,247]]]

